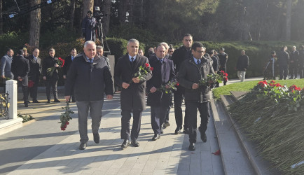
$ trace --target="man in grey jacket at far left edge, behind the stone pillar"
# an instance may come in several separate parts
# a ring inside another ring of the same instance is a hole
[[[8,48],[6,55],[1,58],[1,78],[14,78],[14,75],[11,72],[13,55],[14,51],[11,48]],[[4,85],[4,92],[6,92],[6,85]]]

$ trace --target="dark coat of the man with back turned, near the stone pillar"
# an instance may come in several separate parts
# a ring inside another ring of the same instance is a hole
[[[29,73],[29,60],[20,56],[15,56],[12,62],[12,73],[14,74],[14,79],[18,80],[18,77],[22,78],[22,85],[28,85],[27,75]]]

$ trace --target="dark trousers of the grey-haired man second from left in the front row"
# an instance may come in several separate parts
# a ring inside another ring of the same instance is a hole
[[[142,111],[133,111],[133,125],[131,130],[131,139],[137,139],[139,136],[140,125],[141,125],[141,113]],[[121,139],[129,139],[130,136],[130,119],[131,110],[121,111]]]

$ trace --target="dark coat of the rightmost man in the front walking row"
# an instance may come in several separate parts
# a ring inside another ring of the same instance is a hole
[[[193,90],[193,83],[198,83],[202,78],[207,78],[209,73],[214,73],[212,62],[202,57],[200,66],[196,64],[193,57],[181,64],[177,74],[179,85],[185,87],[185,100],[189,102],[207,102],[210,99],[210,87],[200,86]]]

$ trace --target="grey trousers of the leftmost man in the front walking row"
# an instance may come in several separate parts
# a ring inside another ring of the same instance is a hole
[[[92,118],[92,133],[97,134],[102,120],[102,106],[104,100],[76,102],[78,108],[78,130],[81,143],[87,142],[88,138],[88,114]]]

